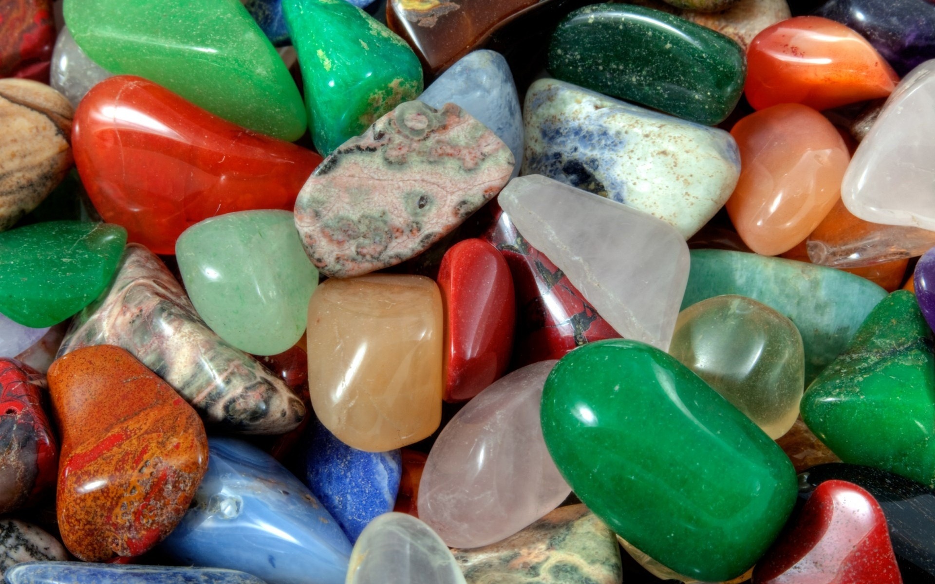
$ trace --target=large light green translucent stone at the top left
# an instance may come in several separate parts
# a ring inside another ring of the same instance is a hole
[[[239,0],[65,0],[79,47],[116,75],[283,140],[305,133],[295,81]]]

